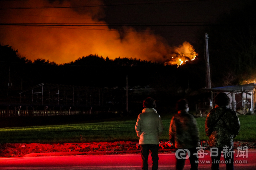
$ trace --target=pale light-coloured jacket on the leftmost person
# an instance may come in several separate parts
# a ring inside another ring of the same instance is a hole
[[[159,136],[163,132],[163,125],[160,115],[154,108],[144,108],[138,115],[135,125],[137,136],[140,138],[139,145],[159,145]]]

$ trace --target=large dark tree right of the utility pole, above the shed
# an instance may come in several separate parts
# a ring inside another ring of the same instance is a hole
[[[216,86],[226,84],[223,79],[234,75],[228,84],[254,82],[256,72],[256,13],[255,2],[242,10],[223,14],[222,26],[206,29],[209,34],[209,54],[212,81]],[[221,68],[221,69],[220,69]],[[235,77],[235,78],[234,78]]]

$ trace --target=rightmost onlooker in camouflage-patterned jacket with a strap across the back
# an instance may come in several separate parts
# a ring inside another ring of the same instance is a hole
[[[209,137],[208,144],[212,147],[212,170],[219,169],[219,160],[221,151],[224,149],[229,154],[224,155],[227,170],[234,170],[234,137],[236,137],[240,130],[240,121],[236,112],[228,109],[230,98],[226,93],[220,92],[214,98],[216,107],[208,113],[205,121],[205,132]],[[224,151],[224,150],[223,150]]]

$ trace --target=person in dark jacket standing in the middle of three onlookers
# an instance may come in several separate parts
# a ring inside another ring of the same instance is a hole
[[[172,117],[170,123],[170,142],[175,144],[176,149],[176,170],[183,170],[186,159],[180,156],[181,150],[183,154],[187,152],[191,168],[198,169],[198,157],[196,147],[200,144],[199,130],[196,119],[188,113],[188,102],[181,99],[176,104],[178,113]]]

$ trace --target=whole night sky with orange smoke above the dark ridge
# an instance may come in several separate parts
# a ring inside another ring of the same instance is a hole
[[[174,53],[186,55],[185,46],[196,43],[198,34],[204,36],[203,26],[188,25],[214,24],[222,14],[242,9],[251,2],[251,0],[0,0],[0,23],[105,25],[104,27],[0,25],[0,43],[18,49],[20,55],[32,61],[43,58],[56,63],[68,63],[90,54],[98,54],[104,58],[108,56],[110,59],[132,57],[165,61],[173,57]],[[95,7],[51,8],[56,6]],[[27,7],[50,8],[5,9]],[[137,24],[140,26],[134,26]],[[151,24],[186,26],[144,26]]]

